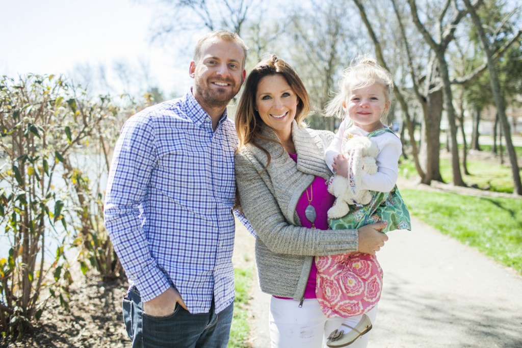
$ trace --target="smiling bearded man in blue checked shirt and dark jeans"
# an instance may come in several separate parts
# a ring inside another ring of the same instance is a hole
[[[247,47],[227,31],[196,44],[184,97],[137,113],[113,154],[105,225],[129,280],[133,347],[226,347],[232,320],[236,134],[227,104]]]

